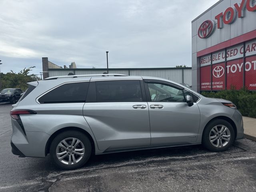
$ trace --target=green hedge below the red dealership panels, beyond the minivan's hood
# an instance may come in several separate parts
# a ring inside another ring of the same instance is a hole
[[[250,92],[246,88],[241,90],[223,90],[218,92],[202,92],[203,96],[221,98],[232,101],[243,116],[256,118],[256,92]]]

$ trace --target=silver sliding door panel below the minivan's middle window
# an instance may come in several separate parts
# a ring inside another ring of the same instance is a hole
[[[99,150],[150,146],[147,102],[85,103],[83,112]]]

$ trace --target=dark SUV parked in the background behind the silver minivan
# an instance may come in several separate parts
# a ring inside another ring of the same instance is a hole
[[[3,89],[0,93],[0,102],[15,103],[20,99],[21,93],[22,90],[18,88]]]

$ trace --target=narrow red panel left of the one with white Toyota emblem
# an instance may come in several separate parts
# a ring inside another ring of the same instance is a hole
[[[200,68],[200,89],[211,90],[211,66]]]

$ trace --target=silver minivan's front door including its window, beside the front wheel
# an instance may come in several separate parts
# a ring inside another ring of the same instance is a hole
[[[165,81],[146,80],[149,106],[151,145],[196,142],[200,111],[196,103],[188,106],[191,93]]]

